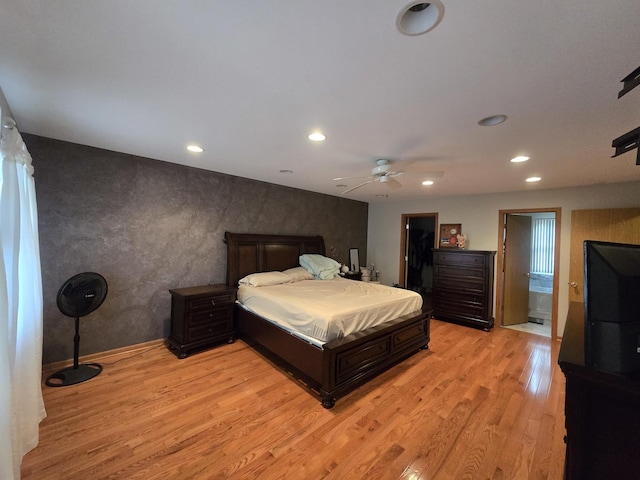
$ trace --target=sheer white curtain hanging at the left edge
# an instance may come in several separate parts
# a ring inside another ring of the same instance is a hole
[[[19,479],[38,444],[42,276],[31,156],[10,118],[0,126],[0,479]]]

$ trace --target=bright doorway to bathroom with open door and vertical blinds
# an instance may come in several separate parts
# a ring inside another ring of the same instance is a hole
[[[560,208],[501,210],[496,324],[558,338]]]

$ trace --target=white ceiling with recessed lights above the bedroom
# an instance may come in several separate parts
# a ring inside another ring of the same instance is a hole
[[[442,0],[403,35],[414,3],[2,0],[0,87],[23,132],[331,195],[402,160],[366,202],[640,180],[637,150],[611,158],[640,126],[640,87],[617,98],[640,1]]]

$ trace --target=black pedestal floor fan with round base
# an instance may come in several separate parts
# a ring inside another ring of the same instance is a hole
[[[67,280],[58,291],[58,309],[76,321],[73,337],[73,366],[52,374],[45,382],[50,387],[63,387],[89,380],[102,371],[98,363],[78,363],[80,354],[80,318],[96,310],[107,296],[107,281],[98,273],[79,273]]]

